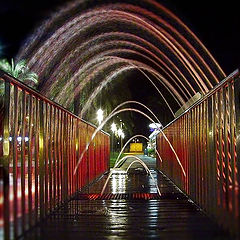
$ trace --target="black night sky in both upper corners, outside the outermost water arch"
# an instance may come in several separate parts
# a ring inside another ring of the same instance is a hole
[[[13,57],[34,27],[66,0],[1,0],[1,56]],[[240,62],[240,14],[237,1],[159,1],[200,38],[226,74]]]

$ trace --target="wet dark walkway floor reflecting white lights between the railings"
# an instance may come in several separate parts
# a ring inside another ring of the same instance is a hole
[[[138,193],[156,196],[157,190],[150,176],[136,164],[128,174],[115,173],[110,179],[105,195],[113,193],[111,196],[119,199],[89,200],[83,197],[89,195],[80,193],[22,239],[230,239],[167,177],[155,171],[154,159],[141,159],[158,182],[163,193],[160,199],[138,199]],[[126,169],[129,163],[122,168]],[[106,178],[103,176],[85,193],[100,193]]]

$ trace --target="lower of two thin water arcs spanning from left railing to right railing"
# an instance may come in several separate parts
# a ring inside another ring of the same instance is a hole
[[[145,116],[146,118],[148,118],[152,123],[155,123],[152,118],[150,118],[147,114],[145,114],[144,112],[142,112],[142,111],[140,111],[140,110],[138,110],[138,109],[134,109],[134,108],[124,108],[124,109],[120,109],[120,110],[118,110],[118,111],[115,111],[115,109],[114,109],[114,110],[112,111],[112,113],[109,114],[109,116],[98,126],[98,128],[97,128],[97,129],[94,131],[94,133],[92,134],[92,137],[91,137],[89,143],[86,145],[85,149],[84,149],[83,152],[81,153],[80,158],[79,158],[79,160],[78,160],[78,162],[77,162],[77,164],[76,164],[76,167],[75,167],[74,172],[73,172],[74,175],[76,174],[77,169],[78,169],[78,167],[79,167],[79,165],[80,165],[80,163],[81,163],[81,161],[82,161],[83,155],[84,155],[84,154],[86,153],[86,151],[88,150],[89,145],[91,144],[91,142],[92,142],[93,139],[95,138],[97,132],[100,131],[100,130],[103,128],[103,126],[104,126],[112,117],[114,117],[115,115],[117,115],[117,114],[119,114],[119,113],[121,113],[121,112],[126,112],[126,111],[138,112],[138,113],[142,114],[143,116]],[[183,172],[183,174],[184,174],[184,177],[186,177],[186,172],[185,172],[185,170],[184,170],[184,168],[183,168],[183,166],[182,166],[182,163],[180,162],[180,160],[179,160],[179,158],[178,158],[178,156],[177,156],[177,153],[176,153],[176,151],[174,150],[172,144],[171,144],[170,141],[168,140],[168,138],[167,138],[167,136],[165,135],[165,133],[164,133],[161,129],[159,129],[159,130],[160,130],[161,133],[163,134],[164,139],[167,141],[167,143],[169,144],[171,150],[173,151],[174,155],[176,156],[177,162],[178,162],[178,164],[179,164],[180,167],[181,167],[181,170],[182,170],[182,172]]]

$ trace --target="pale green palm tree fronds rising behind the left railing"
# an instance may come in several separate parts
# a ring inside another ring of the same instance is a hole
[[[0,59],[0,69],[26,83],[27,85],[36,88],[38,83],[38,75],[34,72],[31,72],[26,63],[26,60],[20,60],[17,64],[14,64],[14,60],[11,59],[10,64],[7,59]],[[4,86],[1,84],[0,94],[3,93],[3,88]]]

